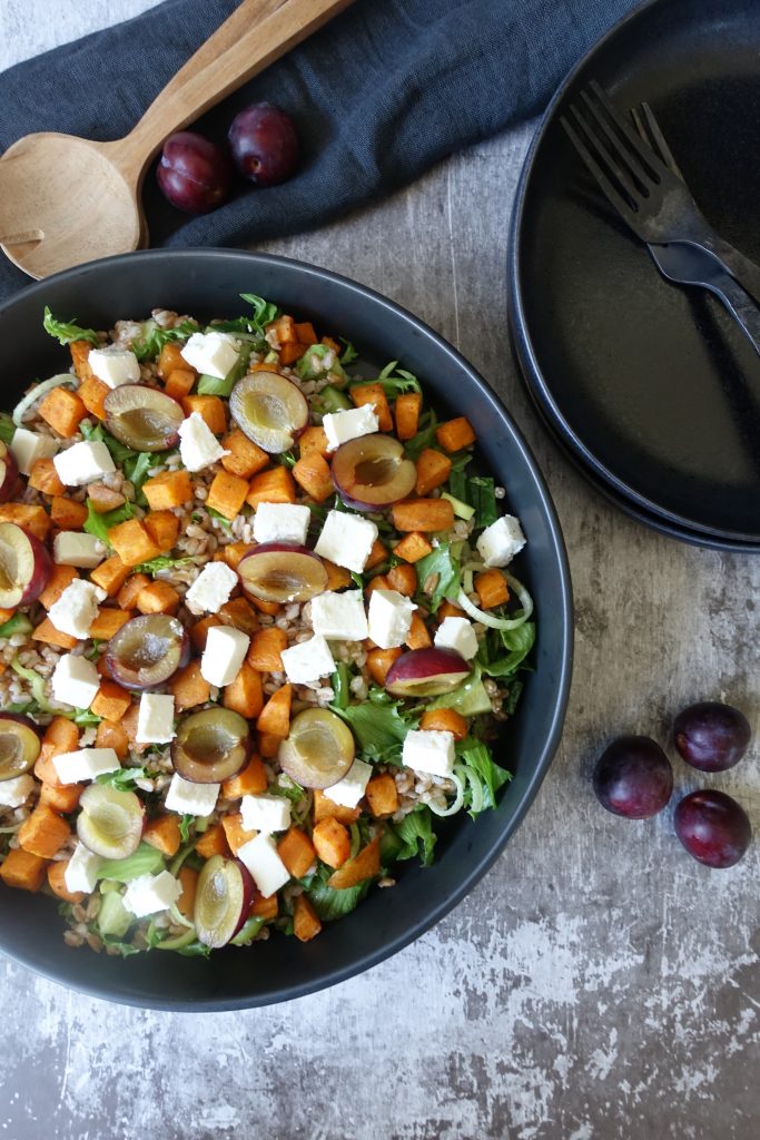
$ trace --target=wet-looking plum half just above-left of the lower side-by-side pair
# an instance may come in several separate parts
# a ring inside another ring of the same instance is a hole
[[[190,638],[181,621],[149,613],[124,622],[106,648],[106,667],[124,689],[158,689],[190,659]]]

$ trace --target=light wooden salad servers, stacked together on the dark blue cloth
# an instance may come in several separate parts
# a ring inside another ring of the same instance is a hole
[[[0,247],[31,277],[147,243],[140,188],[167,135],[279,59],[351,0],[243,0],[115,142],[27,135],[0,158]]]

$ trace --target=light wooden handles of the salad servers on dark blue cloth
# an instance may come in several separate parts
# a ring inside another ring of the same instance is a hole
[[[352,0],[243,0],[154,99],[109,158],[138,180],[164,139],[305,40]]]

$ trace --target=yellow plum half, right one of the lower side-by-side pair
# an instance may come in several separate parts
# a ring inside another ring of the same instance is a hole
[[[329,709],[304,709],[293,718],[277,758],[302,788],[332,788],[353,764],[356,751],[351,730],[340,716]]]

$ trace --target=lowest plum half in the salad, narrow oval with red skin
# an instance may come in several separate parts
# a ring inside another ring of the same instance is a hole
[[[198,942],[219,950],[235,937],[251,913],[255,885],[239,860],[212,855],[203,864],[195,891],[195,923]]]

